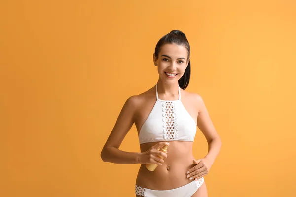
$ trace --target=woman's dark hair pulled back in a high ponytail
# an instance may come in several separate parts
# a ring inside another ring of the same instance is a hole
[[[158,53],[160,48],[164,44],[177,44],[177,45],[184,45],[188,51],[187,60],[190,57],[190,45],[186,38],[186,35],[180,30],[172,30],[170,33],[164,35],[160,40],[157,42],[155,47],[155,57],[158,59]],[[188,63],[187,68],[185,69],[184,75],[179,79],[178,83],[180,88],[186,89],[190,80],[190,61]]]

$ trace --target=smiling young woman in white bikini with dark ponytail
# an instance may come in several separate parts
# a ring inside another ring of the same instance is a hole
[[[127,99],[101,158],[116,164],[142,164],[136,197],[207,197],[203,177],[220,151],[221,140],[202,97],[185,91],[190,78],[190,46],[185,34],[173,30],[163,36],[153,62],[159,74],[156,85]],[[134,123],[141,153],[119,150]],[[208,154],[197,160],[192,154],[196,126],[209,144]],[[159,151],[164,145],[169,145],[166,153]],[[146,168],[151,163],[157,164],[154,171]]]

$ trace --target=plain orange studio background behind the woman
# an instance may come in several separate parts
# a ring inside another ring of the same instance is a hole
[[[134,196],[140,164],[100,152],[174,29],[222,139],[209,197],[295,196],[295,0],[4,0],[0,27],[1,197]],[[135,126],[120,149],[140,151]]]

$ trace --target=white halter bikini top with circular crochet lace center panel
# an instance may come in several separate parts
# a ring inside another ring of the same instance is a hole
[[[194,141],[196,123],[181,102],[179,86],[178,100],[158,98],[139,133],[140,144],[157,141]]]

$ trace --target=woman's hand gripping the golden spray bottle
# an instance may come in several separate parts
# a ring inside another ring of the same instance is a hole
[[[167,158],[168,155],[162,151],[159,151],[161,147],[163,147],[164,145],[170,145],[168,142],[160,142],[154,146],[152,146],[151,148],[149,148],[146,152],[141,153],[140,155],[140,164],[157,164],[157,165],[161,165],[164,160],[161,159],[159,156],[165,157]]]

